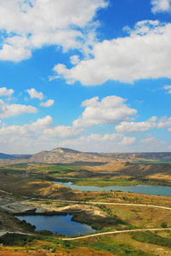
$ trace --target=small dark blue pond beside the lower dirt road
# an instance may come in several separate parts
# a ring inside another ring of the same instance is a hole
[[[36,230],[50,230],[54,234],[66,236],[79,236],[86,235],[88,233],[94,233],[96,230],[92,229],[88,224],[80,224],[75,221],[71,221],[71,215],[25,215],[15,216],[20,220],[25,219],[26,222],[35,225]]]

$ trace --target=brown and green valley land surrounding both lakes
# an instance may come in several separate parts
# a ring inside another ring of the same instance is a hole
[[[91,158],[86,155],[87,158],[80,158],[78,164],[76,155],[82,153],[63,148],[58,159],[59,150],[52,150],[52,162],[49,161],[50,154],[46,159],[48,162],[42,162],[40,158],[37,162],[36,158],[33,161],[29,158],[27,162],[23,158],[1,160],[1,255],[86,253],[91,256],[147,256],[171,253],[171,193],[168,196],[150,195],[150,192],[145,195],[116,189],[117,186],[122,189],[141,184],[162,186],[163,191],[170,187],[171,191],[171,166],[168,162],[161,163],[163,159],[159,158],[159,154],[156,154],[157,159],[153,154],[153,159],[146,154],[143,163],[138,158],[133,160],[133,154],[131,157],[128,155],[129,160],[123,161],[121,154],[118,159],[108,158],[108,161],[106,154],[102,159],[99,155],[93,154],[92,158],[92,154],[88,154]],[[66,163],[59,162],[61,154]],[[67,160],[68,155],[70,161]],[[169,161],[168,155],[166,158]],[[60,182],[94,185],[102,191],[71,189]],[[103,191],[109,185],[115,189]],[[70,240],[58,232],[58,227],[57,234],[54,234],[48,226],[46,230],[36,230],[35,224],[17,218],[18,215],[23,218],[58,218],[68,214],[73,224],[87,224],[94,229],[94,236],[80,234],[80,239]]]

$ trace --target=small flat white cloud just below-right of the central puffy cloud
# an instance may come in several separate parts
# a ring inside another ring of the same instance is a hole
[[[146,120],[145,122],[122,122],[121,125],[115,127],[118,132],[143,132],[148,131],[151,128],[157,127],[156,124],[157,117],[153,116],[151,119]]]

